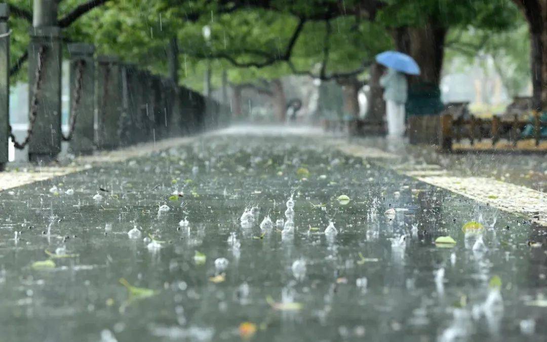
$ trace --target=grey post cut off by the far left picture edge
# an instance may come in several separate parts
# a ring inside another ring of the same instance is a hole
[[[9,6],[0,3],[0,171],[8,163],[9,144]]]

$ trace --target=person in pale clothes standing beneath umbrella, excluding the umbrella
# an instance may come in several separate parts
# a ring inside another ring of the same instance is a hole
[[[402,137],[405,134],[405,103],[408,92],[406,76],[388,68],[386,74],[380,78],[380,85],[384,88],[388,136]]]

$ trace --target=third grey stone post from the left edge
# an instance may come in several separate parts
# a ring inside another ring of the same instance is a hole
[[[70,54],[69,113],[74,133],[69,150],[74,154],[90,154],[95,141],[95,47],[90,44],[68,44]]]

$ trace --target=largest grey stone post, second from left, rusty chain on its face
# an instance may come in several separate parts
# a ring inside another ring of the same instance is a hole
[[[32,27],[30,36],[28,159],[48,162],[61,152],[61,31],[56,26]]]

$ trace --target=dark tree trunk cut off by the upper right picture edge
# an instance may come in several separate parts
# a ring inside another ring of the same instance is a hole
[[[530,30],[534,109],[547,109],[547,0],[513,0],[523,10]]]

